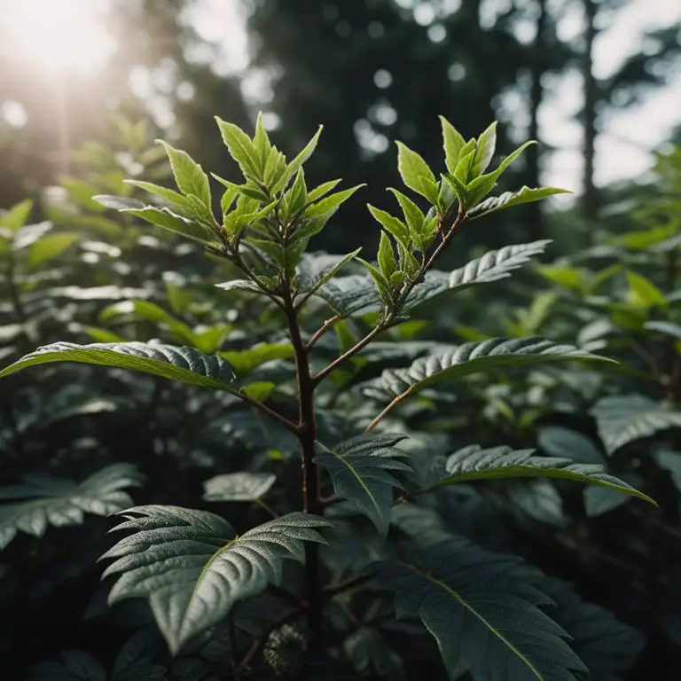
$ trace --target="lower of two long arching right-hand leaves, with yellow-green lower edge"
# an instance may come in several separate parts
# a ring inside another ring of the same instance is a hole
[[[656,505],[653,499],[626,482],[606,473],[599,464],[575,464],[569,458],[540,457],[535,450],[494,447],[483,450],[474,444],[447,458],[439,487],[478,480],[508,478],[555,478],[613,489]]]

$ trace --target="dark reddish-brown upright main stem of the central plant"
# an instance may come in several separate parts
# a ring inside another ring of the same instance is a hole
[[[302,452],[302,507],[305,513],[322,514],[320,475],[315,458],[317,424],[315,419],[315,385],[309,372],[308,349],[301,337],[294,302],[290,292],[284,299],[288,333],[294,346],[295,367],[298,377],[298,439]],[[305,543],[305,585],[308,604],[308,645],[312,651],[322,646],[322,582],[319,569],[319,547],[314,542]]]

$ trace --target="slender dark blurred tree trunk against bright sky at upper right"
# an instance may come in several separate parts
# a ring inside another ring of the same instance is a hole
[[[593,43],[596,38],[596,4],[584,0],[584,51],[582,75],[584,83],[583,122],[583,197],[582,215],[587,221],[596,218],[599,193],[593,184],[594,156],[596,153],[596,103],[598,98],[596,78],[593,75]]]

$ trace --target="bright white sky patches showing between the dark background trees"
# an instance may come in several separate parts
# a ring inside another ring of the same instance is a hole
[[[31,60],[56,72],[60,68],[74,68],[92,73],[103,60],[106,61],[113,49],[110,37],[98,24],[98,13],[110,1],[0,0],[0,29],[9,35],[9,39],[0,44],[0,50],[10,51],[20,59]],[[433,12],[425,18],[422,16],[424,12],[418,12],[419,8],[427,5],[417,6],[416,0],[397,1],[404,7],[416,7],[415,18],[419,23],[433,20]],[[448,9],[456,9],[459,1],[447,0]],[[493,7],[508,2],[488,0]],[[564,0],[555,2],[562,4]],[[192,21],[201,37],[216,45],[216,54],[207,45],[200,46],[195,54],[197,59],[210,61],[225,74],[241,73],[246,69],[248,43],[240,2],[197,0],[188,20]],[[668,27],[675,22],[681,23],[681,2],[678,0],[630,0],[615,14],[613,25],[599,35],[595,54],[597,74],[605,76],[612,73],[622,59],[640,49],[641,36],[646,29]],[[563,37],[579,35],[582,31],[580,12],[567,12],[559,28]],[[137,75],[140,77],[136,90],[148,91],[148,77]],[[256,104],[259,99],[262,101],[266,83],[262,82],[262,78],[248,77],[242,90],[247,101]],[[540,112],[540,137],[559,148],[545,168],[544,184],[579,187],[581,129],[571,119],[579,110],[581,99],[581,82],[573,74],[560,82],[556,97],[547,102]],[[681,122],[680,105],[681,73],[677,74],[669,88],[655,91],[642,106],[608,116],[602,122],[605,134],[598,141],[597,183],[606,184],[645,174],[651,165],[650,151],[669,137],[670,130]],[[16,103],[0,106],[0,115],[8,121],[13,118],[19,123],[20,113]],[[165,113],[168,115],[170,111]]]

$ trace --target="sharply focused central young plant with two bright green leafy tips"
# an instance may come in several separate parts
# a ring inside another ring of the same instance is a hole
[[[303,166],[321,129],[301,153],[286,160],[270,143],[262,119],[252,138],[231,123],[217,122],[244,178],[233,184],[214,176],[224,187],[217,215],[207,174],[165,142],[176,189],[136,182],[160,202],[98,200],[182,234],[242,272],[242,278],[219,288],[266,301],[288,336],[277,351],[253,348],[258,354],[248,368],[260,365],[261,374],[255,380],[240,376],[227,353],[207,354],[193,342],[175,347],[136,341],[54,343],[23,356],[0,376],[37,364],[77,362],[232,395],[298,442],[301,499],[280,495],[276,508],[262,500],[284,482],[283,475],[272,473],[282,469],[271,458],[260,470],[233,471],[206,483],[207,501],[253,502],[270,514],[269,521],[246,531],[215,513],[172,505],[122,511],[124,521],[115,529],[126,536],[103,556],[112,561],[105,575],[115,577],[109,601],[145,599],[172,654],[226,622],[229,653],[217,671],[221,678],[244,677],[268,666],[270,673],[335,678],[345,664],[382,676],[386,665],[401,669],[407,662],[387,643],[394,642],[388,622],[395,617],[420,619],[450,678],[581,678],[587,668],[575,652],[579,646],[573,649],[567,640],[570,634],[578,641],[580,632],[568,623],[566,632],[560,613],[553,619],[547,614],[555,584],[551,587],[517,559],[467,543],[449,528],[424,524],[410,535],[405,514],[420,517],[426,509],[419,499],[435,490],[499,479],[580,481],[652,500],[601,466],[545,458],[531,450],[469,446],[449,457],[428,450],[417,456],[419,438],[410,438],[408,428],[387,424],[395,424],[395,414],[414,396],[472,373],[604,358],[536,337],[416,349],[399,341],[374,342],[380,334],[394,339],[395,328],[425,301],[506,278],[542,253],[545,240],[492,251],[451,272],[435,269],[470,223],[562,190],[522,187],[490,197],[499,177],[530,143],[489,170],[496,125],[466,140],[442,118],[442,174],[398,143],[399,172],[412,194],[389,189],[397,215],[369,206],[380,226],[376,258],[360,258],[359,249],[337,257],[311,254],[310,240],[359,189],[335,191],[339,180],[309,186]],[[331,312],[313,325],[320,305]],[[327,359],[332,329],[340,348]],[[270,360],[288,356],[294,358],[288,377],[268,372]],[[353,387],[350,403],[344,402],[333,387],[345,389],[348,367],[378,363],[379,356],[387,361],[385,371]],[[424,456],[425,468],[417,465]],[[398,534],[388,540],[391,524]],[[304,563],[302,574],[291,568],[291,560]],[[386,592],[395,595],[392,608]],[[268,598],[276,599],[278,608]],[[395,630],[395,622],[392,626]],[[320,661],[327,661],[328,669],[320,671]]]

